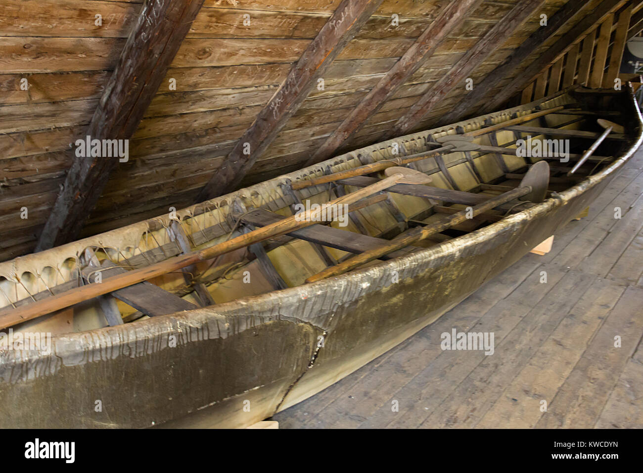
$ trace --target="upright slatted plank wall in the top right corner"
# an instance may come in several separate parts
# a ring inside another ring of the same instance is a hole
[[[619,77],[620,61],[633,12],[643,4],[627,3],[610,14],[596,28],[577,39],[574,44],[553,64],[523,90],[521,103],[537,100],[560,91],[572,84],[584,84],[592,88],[613,88]],[[559,75],[563,74],[563,80]]]

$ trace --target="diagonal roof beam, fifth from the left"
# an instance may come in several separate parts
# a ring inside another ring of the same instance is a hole
[[[568,1],[556,14],[552,15],[547,22],[547,26],[541,26],[536,32],[532,33],[529,38],[518,46],[518,49],[511,53],[505,62],[487,74],[482,79],[482,82],[458,102],[451,112],[440,119],[439,125],[454,123],[465,115],[472,115],[475,112],[475,106],[496,88],[498,82],[514,73],[527,57],[532,55],[545,41],[554,36],[565,24],[572,20],[585,4],[586,0]]]

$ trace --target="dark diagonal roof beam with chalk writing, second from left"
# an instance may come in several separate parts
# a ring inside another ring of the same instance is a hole
[[[356,35],[383,0],[342,0],[275,95],[241,136],[221,167],[205,185],[198,201],[231,192],[257,161],[287,120],[323,77],[332,61]]]

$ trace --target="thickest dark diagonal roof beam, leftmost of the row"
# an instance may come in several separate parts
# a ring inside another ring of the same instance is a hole
[[[86,136],[91,136],[91,140],[129,140],[203,1],[148,0],[143,4]],[[119,159],[78,157],[75,153],[36,251],[62,245],[78,236]]]

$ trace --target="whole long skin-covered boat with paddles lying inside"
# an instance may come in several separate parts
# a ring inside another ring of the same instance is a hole
[[[642,131],[631,88],[568,89],[0,263],[6,337],[53,335],[50,349],[0,352],[0,425],[265,419],[430,324],[579,216]],[[568,140],[568,160],[518,156],[527,136]],[[431,181],[399,183],[408,176],[393,166]],[[350,212],[323,225],[313,209],[304,224],[293,207],[307,202]]]

